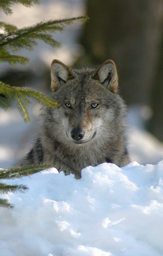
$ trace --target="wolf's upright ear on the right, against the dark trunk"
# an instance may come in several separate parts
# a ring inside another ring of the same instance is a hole
[[[98,68],[94,79],[98,79],[106,89],[116,92],[118,87],[118,74],[115,63],[112,60],[106,60],[106,62]]]

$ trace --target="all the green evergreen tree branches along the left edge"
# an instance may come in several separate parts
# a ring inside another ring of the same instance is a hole
[[[27,7],[31,7],[35,4],[39,4],[39,0],[0,0],[0,9],[5,12],[6,15],[12,14],[12,4],[23,4]],[[63,20],[48,20],[45,22],[39,22],[33,26],[23,27],[18,29],[16,26],[0,21],[0,62],[8,62],[11,65],[26,64],[29,60],[23,56],[11,54],[11,52],[17,52],[20,49],[33,50],[33,47],[37,44],[36,40],[40,39],[52,47],[60,47],[60,43],[52,38],[52,33],[55,31],[62,31],[65,25],[72,24],[75,21],[85,21],[86,16],[80,16],[77,18],[69,18]],[[17,102],[18,110],[21,116],[26,122],[30,121],[27,104],[30,104],[28,97],[36,99],[39,103],[46,105],[47,107],[55,108],[58,106],[57,102],[50,97],[46,97],[41,92],[27,88],[16,87],[5,84],[0,81],[0,107],[4,110],[8,110],[11,107],[13,101]],[[0,179],[10,179],[16,177],[22,177],[25,175],[33,174],[50,167],[50,165],[38,165],[27,167],[14,167],[9,170],[0,170]],[[0,183],[0,193],[25,191],[27,187],[23,185],[6,185]],[[0,198],[0,206],[10,207],[13,206],[5,199]]]

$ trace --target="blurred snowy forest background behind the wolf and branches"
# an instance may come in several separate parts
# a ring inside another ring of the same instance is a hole
[[[163,159],[162,0],[42,0],[31,9],[15,5],[13,15],[1,12],[1,20],[21,28],[42,20],[85,14],[88,22],[54,34],[62,49],[38,42],[34,52],[19,53],[31,59],[27,66],[11,68],[1,64],[0,80],[50,94],[53,59],[75,66],[99,65],[112,59],[118,70],[120,94],[129,107],[128,119],[134,127],[132,160],[155,164]],[[23,123],[14,106],[8,112],[0,111],[1,168],[13,165],[30,146],[39,107],[34,102],[30,108],[29,125]]]

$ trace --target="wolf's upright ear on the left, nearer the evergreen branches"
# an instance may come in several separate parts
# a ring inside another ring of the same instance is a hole
[[[68,79],[72,79],[70,68],[59,60],[53,60],[51,65],[51,87],[55,91],[66,83]]]

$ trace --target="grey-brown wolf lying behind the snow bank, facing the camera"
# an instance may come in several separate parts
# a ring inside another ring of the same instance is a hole
[[[53,60],[51,89],[59,108],[42,108],[35,143],[21,165],[50,163],[80,179],[86,166],[130,162],[127,107],[117,92],[112,60],[99,68],[70,68]]]

